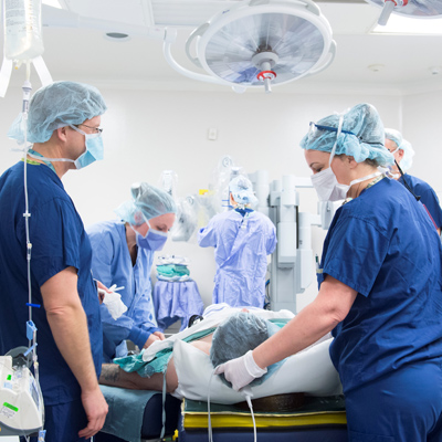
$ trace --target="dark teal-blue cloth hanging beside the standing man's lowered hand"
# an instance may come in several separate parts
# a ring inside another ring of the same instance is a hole
[[[140,442],[146,404],[158,391],[127,390],[108,386],[99,388],[109,406],[102,432],[129,442]]]

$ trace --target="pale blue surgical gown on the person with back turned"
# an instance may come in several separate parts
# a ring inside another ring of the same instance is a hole
[[[276,229],[269,217],[236,210],[214,215],[198,242],[214,248],[217,274],[212,304],[263,308],[267,255],[276,248]]]

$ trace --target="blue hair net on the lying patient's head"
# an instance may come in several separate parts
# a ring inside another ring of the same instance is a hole
[[[213,367],[253,350],[278,329],[277,325],[252,313],[238,312],[233,314],[223,320],[213,333],[212,347],[210,349],[210,360]],[[282,364],[283,361],[280,361],[267,367],[267,372],[262,378],[251,382],[251,386],[262,383]],[[221,378],[231,386],[223,375]]]

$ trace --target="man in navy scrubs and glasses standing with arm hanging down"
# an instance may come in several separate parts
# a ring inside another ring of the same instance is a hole
[[[32,320],[44,398],[48,442],[90,439],[103,427],[107,403],[97,377],[102,326],[92,251],[82,219],[61,178],[103,158],[99,128],[106,105],[99,92],[55,82],[30,102],[27,162],[0,177],[0,354],[28,346],[25,189],[29,200]],[[21,116],[9,136],[23,140]]]

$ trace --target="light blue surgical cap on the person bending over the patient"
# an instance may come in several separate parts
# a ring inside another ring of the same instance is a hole
[[[115,213],[134,225],[166,213],[177,213],[173,198],[161,189],[147,182],[136,182],[130,188],[133,199],[119,206]]]

